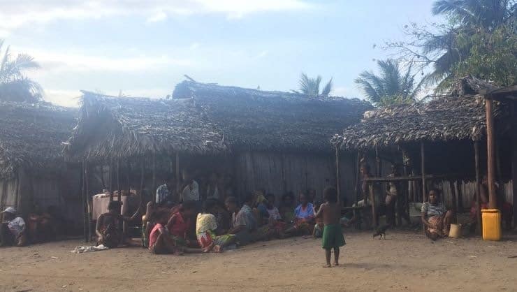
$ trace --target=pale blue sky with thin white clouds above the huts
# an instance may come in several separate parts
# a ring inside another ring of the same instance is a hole
[[[80,90],[164,97],[198,82],[290,91],[300,73],[333,78],[362,98],[409,22],[432,22],[432,0],[0,0],[0,38],[41,65],[45,100],[78,106]],[[374,45],[376,45],[374,47]]]

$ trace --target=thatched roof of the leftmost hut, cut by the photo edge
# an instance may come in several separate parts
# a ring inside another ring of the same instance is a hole
[[[10,177],[20,166],[62,166],[62,143],[74,125],[75,111],[69,108],[0,101],[0,177]]]

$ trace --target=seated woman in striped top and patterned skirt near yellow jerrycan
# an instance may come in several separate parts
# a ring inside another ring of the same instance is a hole
[[[422,205],[422,223],[425,226],[425,235],[432,240],[449,235],[452,212],[447,211],[445,205],[439,202],[438,192],[429,192],[429,202]]]

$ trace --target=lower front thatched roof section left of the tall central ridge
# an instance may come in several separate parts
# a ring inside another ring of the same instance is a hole
[[[206,110],[190,100],[119,98],[83,92],[68,154],[120,158],[151,152],[193,154],[226,150]]]

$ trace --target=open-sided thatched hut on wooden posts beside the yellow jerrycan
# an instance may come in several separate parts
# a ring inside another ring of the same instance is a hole
[[[371,160],[377,163],[376,173],[369,182],[409,182],[405,196],[412,202],[425,201],[427,192],[438,188],[446,205],[462,212],[476,198],[476,180],[487,173],[486,109],[487,103],[490,107],[494,103],[490,112],[496,177],[501,199],[513,203],[511,182],[516,166],[507,157],[516,147],[512,133],[517,127],[511,122],[512,103],[487,96],[496,88],[476,78],[463,78],[446,96],[365,112],[361,123],[347,127],[331,143],[375,157]],[[386,178],[388,168],[382,161],[398,165],[400,177]],[[402,209],[409,213],[407,201],[402,202]]]

